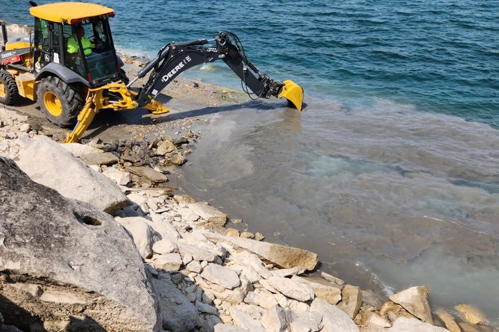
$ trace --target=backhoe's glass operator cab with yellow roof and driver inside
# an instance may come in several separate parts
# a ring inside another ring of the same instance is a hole
[[[110,8],[91,3],[52,3],[30,8],[35,16],[35,75],[50,63],[71,69],[92,87],[120,78],[111,35]]]

